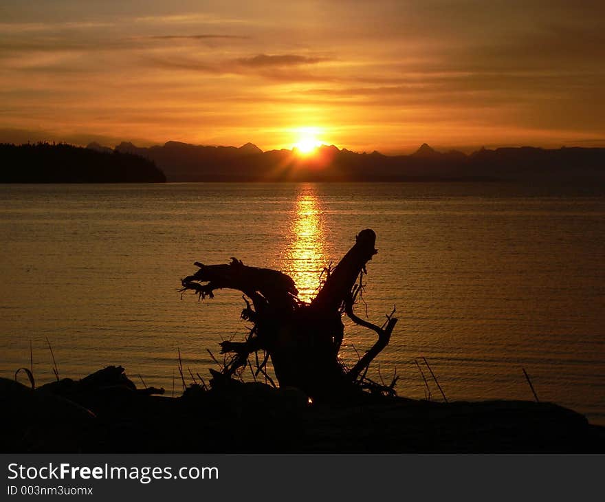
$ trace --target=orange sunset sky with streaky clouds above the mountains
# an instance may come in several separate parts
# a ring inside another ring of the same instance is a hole
[[[1,0],[0,142],[605,146],[603,1]]]

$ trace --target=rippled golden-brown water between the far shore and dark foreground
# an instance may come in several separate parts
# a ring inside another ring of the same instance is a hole
[[[50,381],[48,338],[62,377],[121,364],[170,394],[178,348],[206,378],[206,349],[247,332],[241,294],[180,297],[194,261],[278,268],[310,298],[373,228],[364,298],[378,323],[397,306],[376,362],[399,395],[425,397],[419,356],[450,400],[532,399],[525,367],[540,400],[604,424],[604,216],[602,194],[504,184],[0,186],[0,375],[31,340]],[[373,340],[347,324],[342,357]]]

